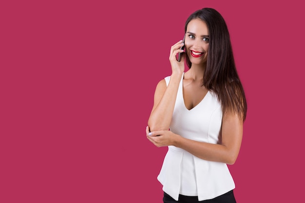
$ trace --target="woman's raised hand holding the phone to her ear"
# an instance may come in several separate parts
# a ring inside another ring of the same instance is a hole
[[[181,55],[181,60],[178,62],[176,55],[178,53],[183,53],[184,50],[180,49],[184,46],[183,40],[178,41],[171,47],[170,53],[170,62],[172,66],[172,74],[181,75],[184,72],[184,60],[185,60],[185,53]]]

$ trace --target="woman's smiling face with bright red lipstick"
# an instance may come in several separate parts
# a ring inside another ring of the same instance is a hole
[[[192,19],[185,37],[185,48],[192,64],[206,64],[209,48],[209,30],[201,19]]]

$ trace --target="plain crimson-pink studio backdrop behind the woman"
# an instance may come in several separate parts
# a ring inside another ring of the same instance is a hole
[[[304,9],[289,0],[0,2],[0,202],[161,203],[145,136],[195,10],[227,21],[248,100],[238,203],[304,196]],[[299,186],[301,185],[301,186]]]

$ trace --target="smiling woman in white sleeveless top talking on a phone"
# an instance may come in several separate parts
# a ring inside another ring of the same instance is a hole
[[[240,150],[247,103],[229,31],[215,9],[203,8],[187,19],[185,33],[185,43],[171,48],[172,74],[157,84],[146,128],[155,146],[169,148],[157,177],[163,201],[235,203],[227,164]]]

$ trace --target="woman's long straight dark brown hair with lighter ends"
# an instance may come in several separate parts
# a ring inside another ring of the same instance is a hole
[[[208,60],[203,76],[203,85],[216,93],[223,112],[237,112],[240,118],[245,121],[247,115],[246,96],[237,74],[229,30],[224,18],[213,8],[195,11],[185,23],[185,33],[192,19],[203,20],[209,29]],[[186,63],[191,68],[188,55],[186,55]]]

